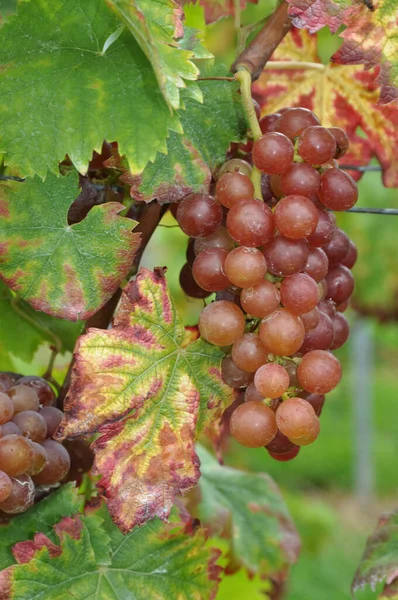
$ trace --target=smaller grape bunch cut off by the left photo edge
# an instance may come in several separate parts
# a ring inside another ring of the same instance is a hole
[[[51,439],[63,413],[41,377],[0,373],[0,511],[33,505],[36,487],[52,486],[70,468],[69,453]]]

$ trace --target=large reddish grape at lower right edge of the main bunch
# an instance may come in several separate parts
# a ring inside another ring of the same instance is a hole
[[[341,379],[338,359],[326,350],[312,350],[304,354],[297,369],[301,386],[312,394],[331,392]]]

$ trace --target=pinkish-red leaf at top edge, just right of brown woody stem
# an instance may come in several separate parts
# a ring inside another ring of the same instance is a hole
[[[339,27],[363,6],[360,0],[287,1],[290,4],[289,14],[293,17],[293,25],[299,29],[308,29],[310,33],[326,26],[332,33],[336,33]]]

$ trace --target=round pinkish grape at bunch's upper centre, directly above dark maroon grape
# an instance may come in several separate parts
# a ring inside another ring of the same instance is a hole
[[[275,207],[275,224],[282,235],[299,240],[314,233],[318,213],[305,196],[285,196]]]

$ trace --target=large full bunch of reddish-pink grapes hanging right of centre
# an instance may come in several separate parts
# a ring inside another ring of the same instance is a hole
[[[305,108],[267,115],[260,127],[263,135],[243,147],[247,160],[222,166],[213,196],[193,193],[178,204],[190,238],[180,284],[193,298],[216,292],[199,330],[226,352],[224,381],[245,389],[231,434],[287,461],[316,440],[325,394],[341,378],[331,351],[349,334],[343,312],[357,250],[331,211],[351,208],[358,190],[338,167],[349,146],[340,128],[322,127]]]

